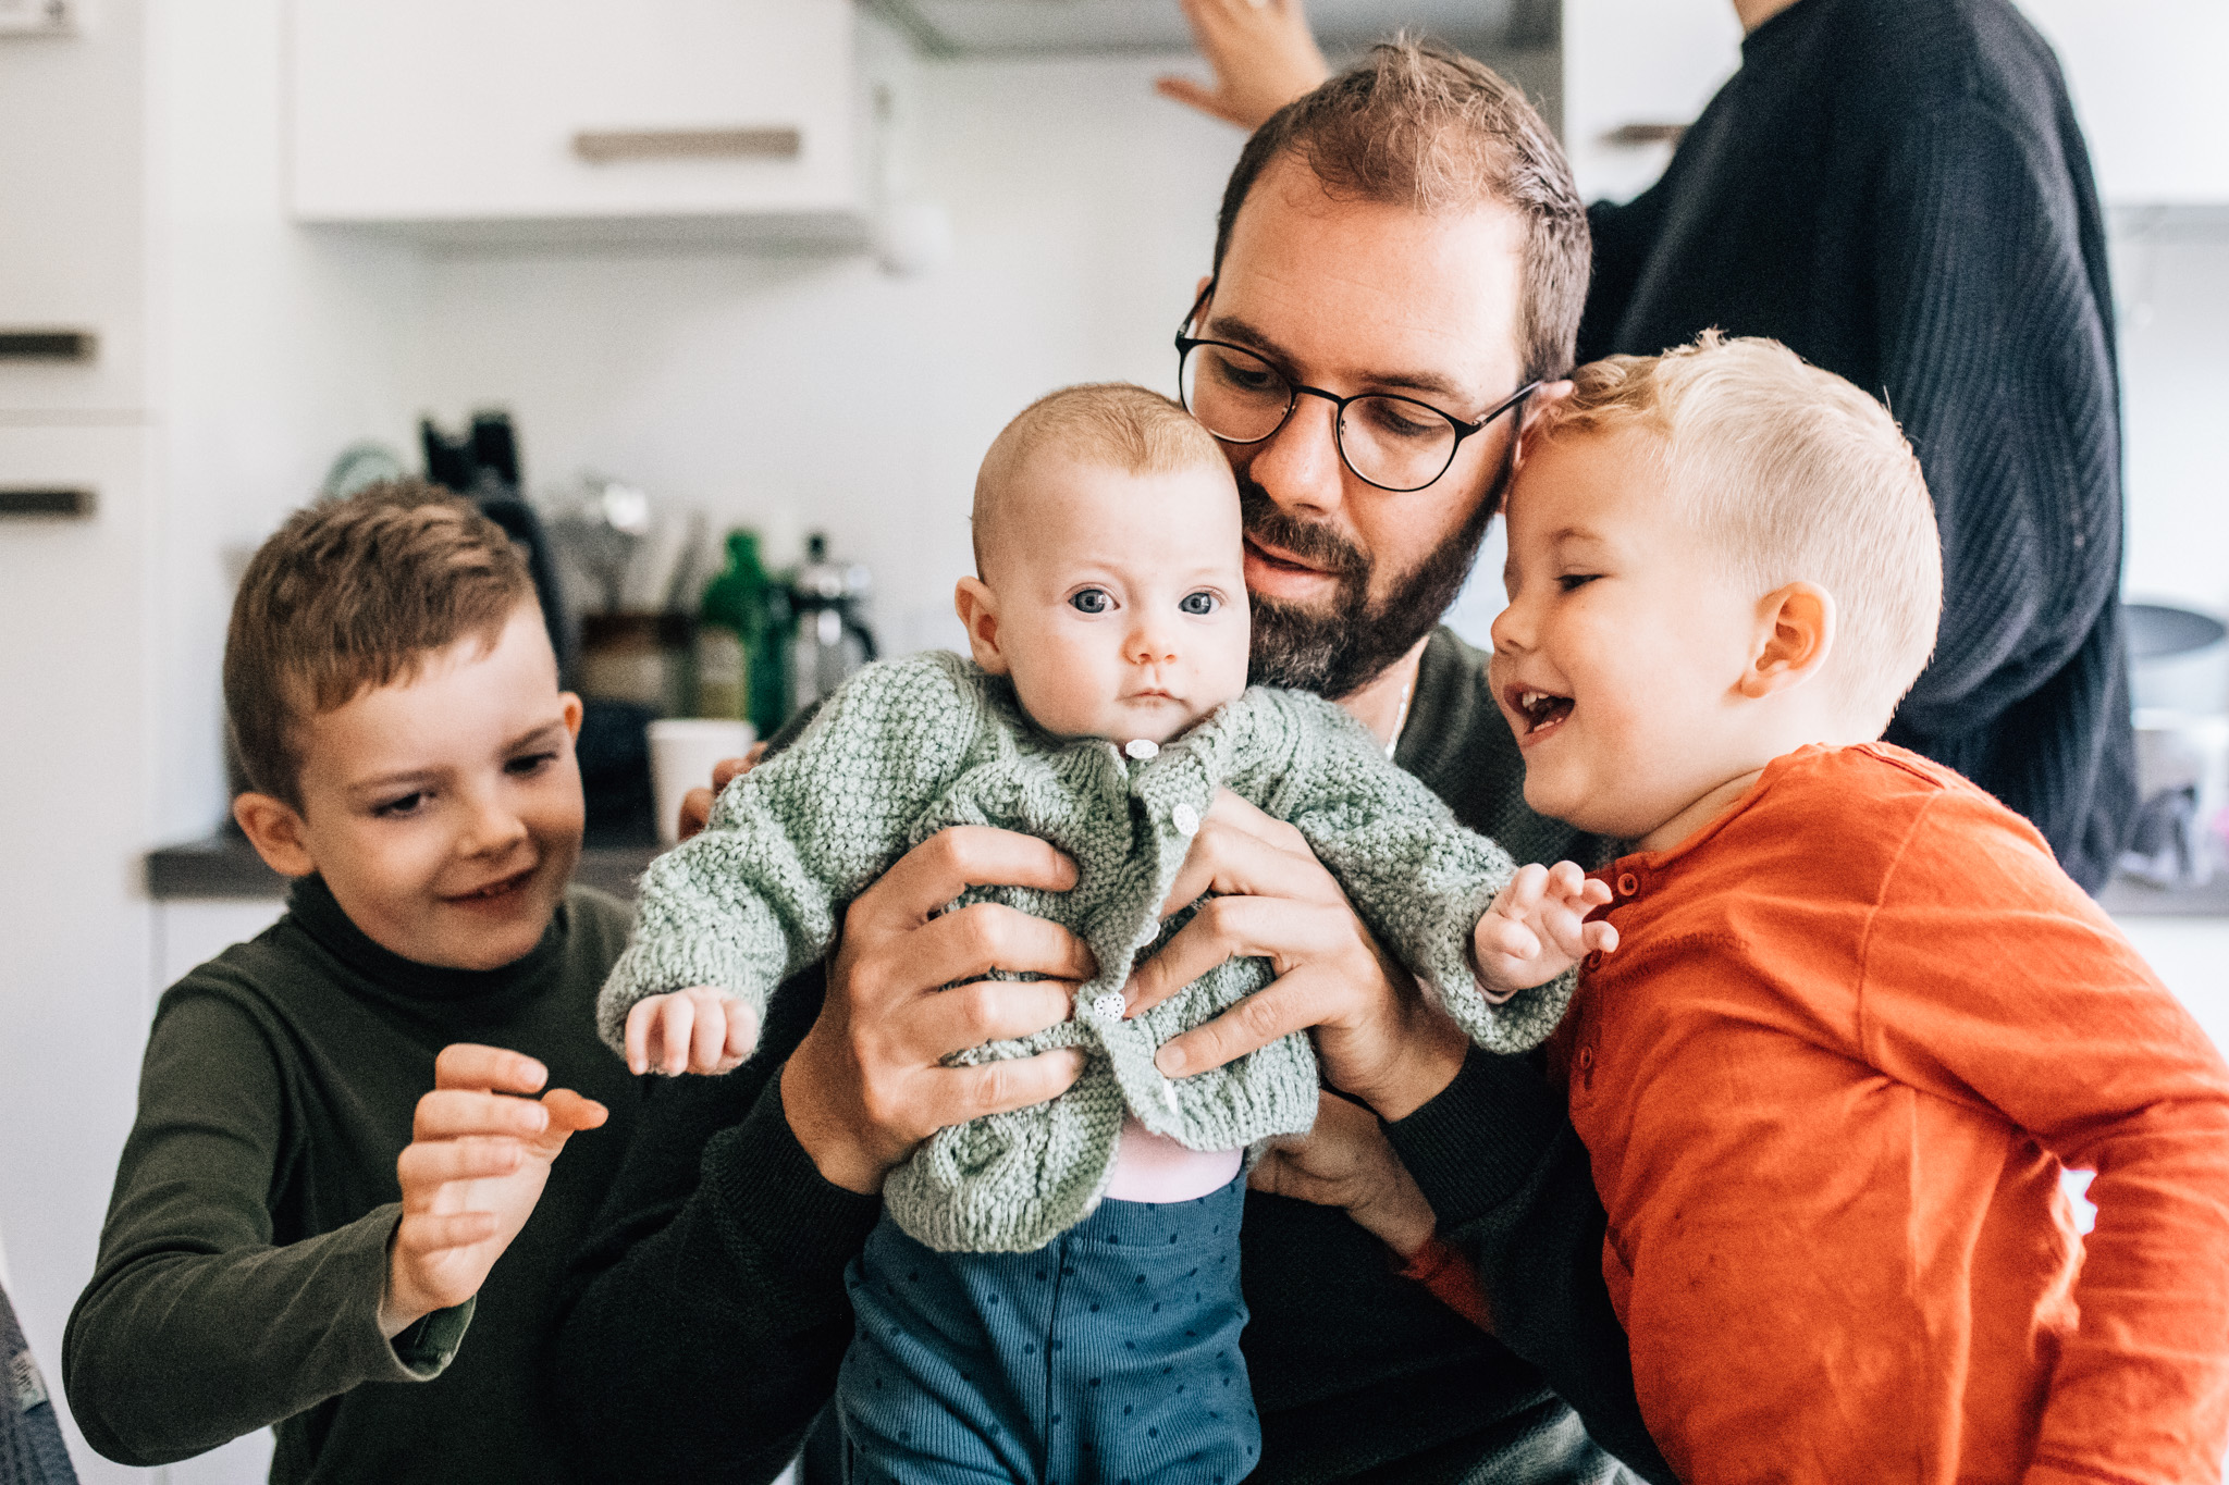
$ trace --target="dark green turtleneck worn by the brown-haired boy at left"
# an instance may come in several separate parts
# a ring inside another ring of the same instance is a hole
[[[158,1465],[276,1423],[279,1483],[564,1478],[546,1331],[635,1122],[635,1080],[593,1022],[624,942],[626,908],[573,888],[524,960],[430,968],[368,940],[310,877],[270,931],[174,984],[62,1343],[87,1440]],[[611,1122],[566,1144],[477,1302],[390,1345],[377,1307],[395,1158],[450,1042],[539,1058]]]

